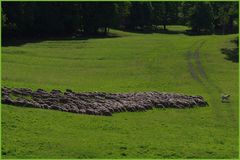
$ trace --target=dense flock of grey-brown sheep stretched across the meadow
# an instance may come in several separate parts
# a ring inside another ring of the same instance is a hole
[[[152,108],[192,108],[207,106],[202,96],[177,93],[78,93],[29,88],[2,88],[2,103],[14,106],[53,109],[66,112],[111,116],[115,112],[145,111]]]

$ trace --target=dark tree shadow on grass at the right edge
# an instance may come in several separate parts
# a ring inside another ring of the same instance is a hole
[[[225,59],[238,63],[239,62],[238,37],[231,42],[236,44],[236,48],[233,49],[223,48],[221,49],[221,52],[222,54],[226,55]]]

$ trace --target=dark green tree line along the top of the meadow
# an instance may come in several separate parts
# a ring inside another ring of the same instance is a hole
[[[238,2],[2,2],[5,37],[167,30],[168,25],[187,25],[196,34],[235,33]]]

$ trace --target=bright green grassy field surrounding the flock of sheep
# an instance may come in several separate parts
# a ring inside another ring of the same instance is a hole
[[[238,63],[220,51],[237,35],[111,32],[119,37],[2,47],[2,85],[180,92],[210,105],[112,117],[2,105],[2,158],[238,157]]]

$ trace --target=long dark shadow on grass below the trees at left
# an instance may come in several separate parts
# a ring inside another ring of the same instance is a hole
[[[117,34],[109,33],[107,35],[98,34],[94,36],[63,36],[63,37],[24,37],[24,38],[2,38],[2,46],[22,46],[26,43],[39,43],[43,41],[64,41],[64,40],[88,40],[88,39],[102,39],[102,38],[118,38]]]

